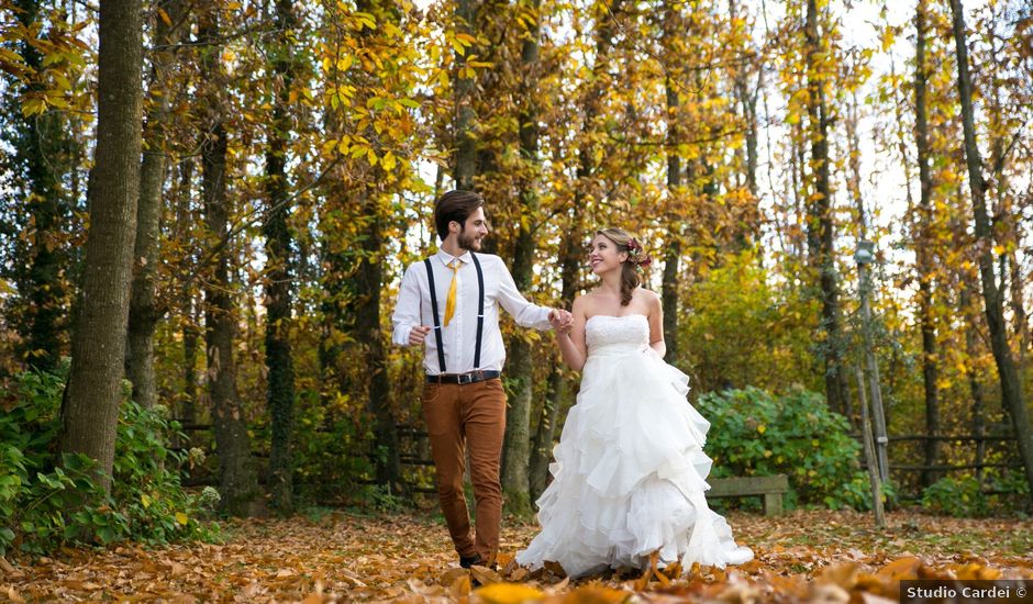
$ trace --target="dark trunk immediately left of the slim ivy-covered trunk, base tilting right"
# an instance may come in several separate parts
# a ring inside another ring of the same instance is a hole
[[[230,201],[226,195],[227,134],[223,125],[224,101],[219,71],[221,46],[219,22],[214,9],[200,15],[198,37],[209,44],[202,57],[203,77],[208,81],[210,121],[201,133],[201,171],[204,197],[204,221],[216,241],[229,236]],[[215,449],[219,455],[220,506],[232,515],[246,515],[258,484],[251,462],[251,438],[247,421],[236,390],[236,366],[233,340],[236,312],[231,294],[231,246],[220,248],[212,279],[204,287],[204,345],[208,357],[208,382],[212,402]]]

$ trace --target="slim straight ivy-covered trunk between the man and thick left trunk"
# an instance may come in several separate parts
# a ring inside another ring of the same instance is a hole
[[[273,121],[266,152],[266,406],[273,438],[269,448],[269,503],[281,514],[293,510],[290,444],[295,415],[295,370],[290,349],[290,191],[287,187],[287,145],[290,141],[290,88],[295,79],[291,40],[297,20],[290,0],[276,2],[277,42],[271,51]]]

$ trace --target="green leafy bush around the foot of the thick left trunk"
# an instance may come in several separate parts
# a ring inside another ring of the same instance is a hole
[[[157,544],[215,535],[218,526],[203,518],[219,494],[182,488],[182,457],[165,445],[179,426],[164,407],[122,404],[108,495],[92,460],[57,455],[63,389],[62,374],[26,372],[13,391],[0,391],[7,411],[0,417],[0,553],[12,547],[45,552],[65,543]]]

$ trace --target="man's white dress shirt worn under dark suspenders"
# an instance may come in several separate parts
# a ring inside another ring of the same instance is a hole
[[[499,331],[499,306],[513,315],[522,327],[548,329],[549,309],[527,302],[516,290],[513,276],[498,256],[477,253],[485,275],[485,327],[480,344],[480,367],[474,367],[474,350],[477,345],[477,304],[480,293],[477,287],[477,267],[467,251],[458,257],[456,271],[455,315],[444,325],[445,301],[452,283],[448,264],[455,257],[438,250],[431,256],[434,269],[434,289],[437,298],[438,324],[442,325],[442,342],[445,346],[445,372],[465,373],[475,369],[501,371],[506,362],[506,348]],[[413,327],[426,325],[431,333],[423,340],[423,367],[427,374],[441,373],[437,361],[437,339],[434,335],[434,314],[431,310],[431,291],[427,287],[426,266],[420,261],[409,265],[398,291],[398,305],[391,317],[395,329],[391,339],[400,346],[409,345],[409,333]]]

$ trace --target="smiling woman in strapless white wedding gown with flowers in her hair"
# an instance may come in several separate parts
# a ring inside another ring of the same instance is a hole
[[[703,496],[710,423],[686,401],[688,377],[663,360],[660,300],[640,287],[649,258],[626,232],[606,228],[589,261],[601,282],[574,301],[574,324],[558,335],[581,387],[537,501],[542,530],[516,561],[584,577],[647,567],[654,551],[662,568],[751,560]]]

